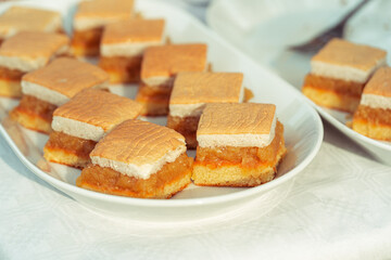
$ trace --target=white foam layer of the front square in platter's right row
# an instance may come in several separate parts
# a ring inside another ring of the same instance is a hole
[[[200,147],[265,147],[272,143],[276,134],[276,116],[272,122],[269,134],[198,134],[197,141]]]

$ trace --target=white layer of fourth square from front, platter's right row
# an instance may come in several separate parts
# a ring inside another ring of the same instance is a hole
[[[101,44],[102,56],[140,56],[149,47],[161,46],[162,41],[122,42],[115,44]]]

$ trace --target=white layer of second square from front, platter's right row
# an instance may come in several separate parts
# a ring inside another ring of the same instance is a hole
[[[241,86],[239,103],[244,99],[244,87]],[[169,115],[174,117],[199,117],[201,116],[206,103],[197,104],[169,104]]]

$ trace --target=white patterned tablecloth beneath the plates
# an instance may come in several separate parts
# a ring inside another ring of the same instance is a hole
[[[204,20],[205,5],[167,2]],[[86,209],[33,174],[0,139],[0,259],[390,259],[391,168],[324,127],[318,155],[275,209],[169,232]]]

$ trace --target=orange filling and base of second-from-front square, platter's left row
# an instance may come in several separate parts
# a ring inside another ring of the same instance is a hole
[[[90,162],[89,154],[96,144],[92,140],[52,131],[43,147],[43,157],[49,161],[83,168]]]

